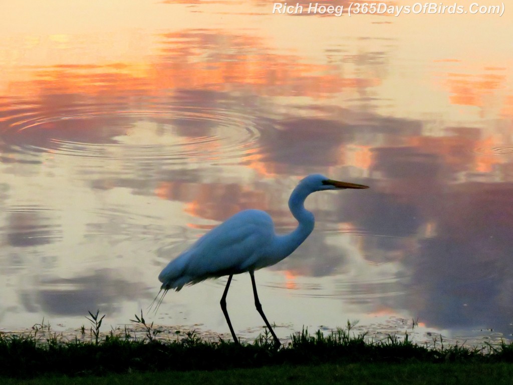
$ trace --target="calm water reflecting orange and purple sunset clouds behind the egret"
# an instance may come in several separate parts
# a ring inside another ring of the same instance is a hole
[[[127,323],[168,261],[237,211],[290,232],[288,196],[320,172],[371,188],[312,195],[312,235],[257,272],[279,336],[418,318],[420,340],[511,337],[513,9],[272,4],[1,6],[0,328],[74,329],[96,309]],[[229,336],[225,282],[149,317]],[[228,309],[238,333],[261,331],[249,275]]]

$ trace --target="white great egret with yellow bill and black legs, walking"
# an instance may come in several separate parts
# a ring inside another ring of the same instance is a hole
[[[275,234],[274,224],[269,214],[253,209],[240,211],[213,228],[162,270],[159,275],[162,286],[157,297],[162,291],[164,293],[157,303],[157,309],[170,289],[179,291],[184,285],[193,285],[207,278],[227,275],[228,282],[226,282],[221,298],[221,309],[233,340],[239,343],[226,310],[226,295],[233,275],[248,272],[251,276],[257,311],[262,316],[274,341],[280,344],[280,340],[274,334],[262,310],[254,272],[262,267],[280,262],[310,235],[313,230],[314,217],[304,206],[308,195],[315,191],[345,188],[368,188],[368,186],[334,181],[319,174],[309,175],[302,179],[292,191],[288,201],[290,212],[299,222],[298,227],[290,234]]]

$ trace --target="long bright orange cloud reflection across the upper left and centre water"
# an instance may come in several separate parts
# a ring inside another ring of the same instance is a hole
[[[139,103],[141,98],[159,97],[176,89],[234,91],[243,87],[262,96],[319,99],[348,88],[365,89],[380,84],[376,78],[346,78],[334,71],[335,67],[303,63],[292,55],[271,53],[257,38],[247,35],[219,30],[161,37],[162,53],[153,63],[55,65],[33,69],[29,71],[31,80],[11,82],[7,91],[39,99],[51,93],[73,94],[77,102],[94,98],[99,103],[119,103],[123,108],[126,104]],[[68,102],[72,103],[73,99]],[[58,106],[48,107],[58,109]]]

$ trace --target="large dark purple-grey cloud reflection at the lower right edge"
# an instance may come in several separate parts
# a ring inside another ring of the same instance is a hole
[[[423,319],[452,326],[510,322],[512,192],[512,184],[467,183],[445,195],[439,209],[451,215],[438,217],[438,236],[422,241],[411,261],[413,298],[422,307],[410,305]]]

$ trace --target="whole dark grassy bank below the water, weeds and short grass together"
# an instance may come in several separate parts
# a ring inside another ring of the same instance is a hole
[[[218,383],[219,378],[224,378],[223,383],[256,383],[258,378],[264,383],[353,383],[348,382],[353,376],[358,383],[373,383],[374,378],[388,381],[380,383],[452,383],[452,379],[473,383],[476,376],[495,378],[494,383],[498,383],[502,375],[513,377],[511,342],[479,349],[458,345],[431,349],[410,341],[407,334],[404,338],[369,341],[365,333],[352,332],[348,323],[346,329],[328,335],[303,330],[278,349],[268,333],[242,345],[222,339],[202,341],[194,332],[183,339],[157,339],[159,330],[147,324],[142,313],[132,321],[145,337],[135,338],[127,329],[102,337],[104,316],[98,311],[89,315],[89,340],[66,341],[44,322],[34,325],[26,335],[0,334],[2,383],[17,383],[6,382],[8,378],[27,379],[28,383],[46,383],[40,382],[45,378],[53,378],[52,383],[79,383],[74,381],[83,377],[94,382],[110,378],[109,383],[151,383],[145,378],[167,378],[166,383],[169,378],[185,383],[203,381],[198,376],[206,376],[205,381],[211,383]],[[481,370],[467,376],[475,367]],[[221,372],[215,375],[215,371]],[[454,373],[449,374],[451,371]],[[443,376],[445,382],[433,382],[436,376],[426,377],[432,373]],[[37,380],[30,382],[34,378]]]

